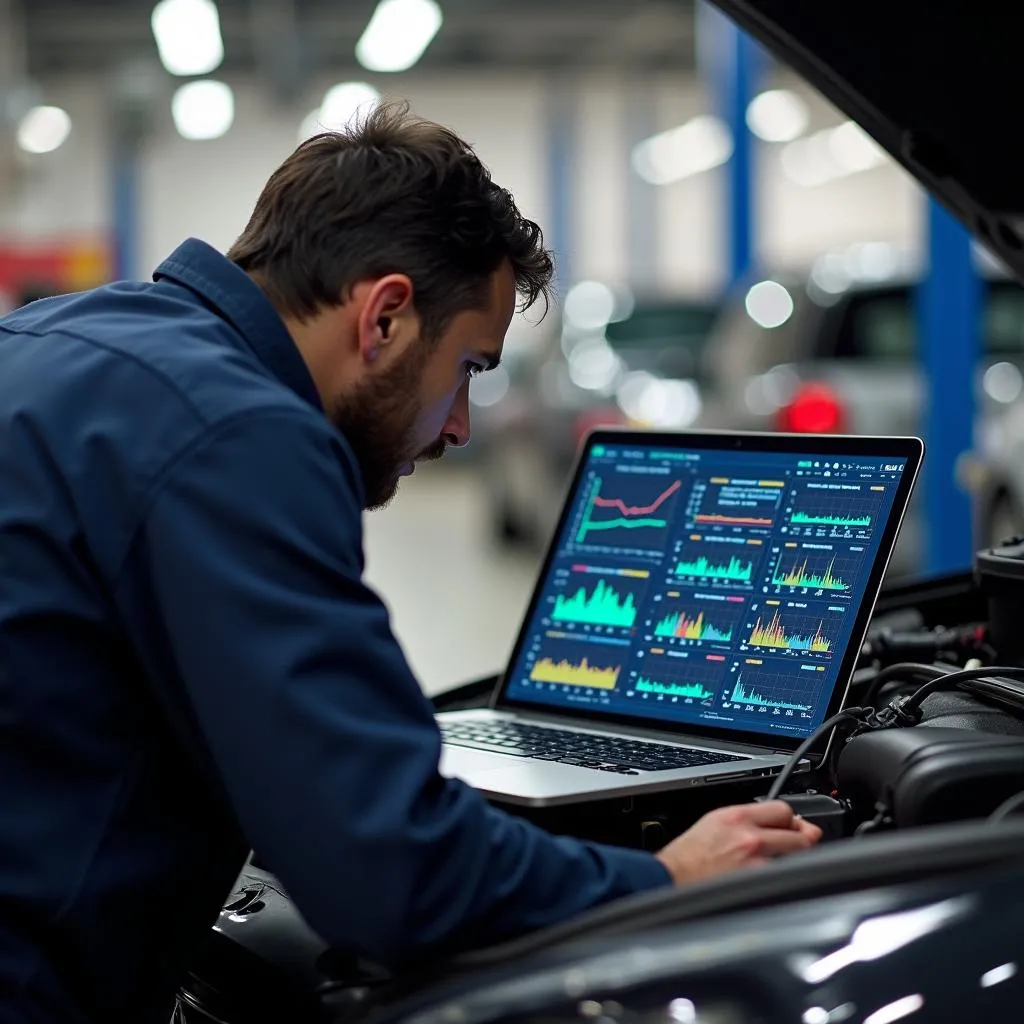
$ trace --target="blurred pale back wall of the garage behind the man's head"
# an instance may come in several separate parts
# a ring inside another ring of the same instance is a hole
[[[179,138],[169,102],[157,119],[141,167],[137,275],[147,274],[187,234],[226,248],[245,224],[266,177],[295,144],[302,116],[314,105],[283,110],[258,84],[231,84],[237,119],[223,139]],[[463,133],[520,206],[542,224],[553,223],[546,151],[550,82],[540,76],[409,75],[385,85],[400,90],[419,113]],[[636,182],[630,184],[628,140],[635,134],[630,118],[635,116],[638,90],[649,97],[654,129],[672,127],[707,110],[703,91],[681,78],[638,83],[613,76],[580,79],[569,88],[572,205],[565,218],[570,238],[562,244],[571,254],[575,275],[629,281],[636,275],[632,262],[638,264],[645,285],[685,291],[716,288],[725,255],[719,229],[720,173],[662,188],[643,186],[653,194],[652,212],[649,230],[639,225],[643,228],[639,250],[637,231],[631,234],[630,225],[637,193]],[[95,82],[54,82],[47,95],[69,110],[74,130],[61,150],[26,161],[17,186],[0,195],[0,234],[7,238],[90,233],[109,226],[102,89]],[[836,119],[820,101],[815,117],[822,123]],[[769,264],[804,264],[822,249],[850,242],[910,243],[919,236],[923,206],[919,189],[892,166],[806,188],[784,178],[776,146],[759,146],[758,165],[758,247]],[[648,236],[649,252],[644,245]],[[651,275],[653,281],[647,280]]]

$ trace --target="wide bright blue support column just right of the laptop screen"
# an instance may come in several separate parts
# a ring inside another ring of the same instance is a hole
[[[928,201],[929,272],[918,303],[926,382],[922,474],[929,572],[967,568],[974,556],[971,502],[955,479],[956,460],[974,442],[974,380],[981,327],[981,281],[971,237]]]

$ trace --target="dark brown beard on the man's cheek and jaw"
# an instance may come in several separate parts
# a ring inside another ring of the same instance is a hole
[[[408,463],[440,459],[447,447],[443,438],[426,449],[415,440],[421,412],[417,395],[429,358],[426,345],[417,349],[338,398],[329,411],[359,463],[368,510],[384,508],[394,498]]]

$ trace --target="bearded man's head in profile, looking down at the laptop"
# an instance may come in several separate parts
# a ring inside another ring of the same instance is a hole
[[[497,366],[516,296],[547,299],[553,271],[469,145],[403,104],[299,146],[228,258],[285,318],[370,508],[469,440],[469,379]]]

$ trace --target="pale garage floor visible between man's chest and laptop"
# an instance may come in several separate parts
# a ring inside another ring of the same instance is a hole
[[[367,580],[428,693],[499,671],[529,599],[537,559],[496,551],[484,509],[470,469],[423,466],[366,517]]]

